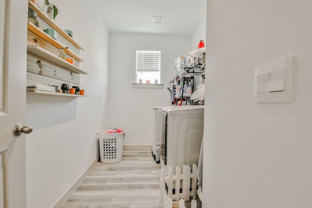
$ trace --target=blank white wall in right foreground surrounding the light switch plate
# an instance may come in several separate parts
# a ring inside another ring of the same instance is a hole
[[[312,207],[312,1],[208,0],[203,208]],[[294,54],[293,102],[254,69]]]

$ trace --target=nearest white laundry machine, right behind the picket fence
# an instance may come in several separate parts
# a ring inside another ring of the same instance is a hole
[[[198,165],[204,132],[204,106],[164,107],[160,113],[160,166]],[[175,173],[174,173],[175,174]]]

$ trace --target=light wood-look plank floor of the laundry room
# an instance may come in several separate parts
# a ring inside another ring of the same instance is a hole
[[[118,163],[98,162],[61,208],[159,208],[159,170],[151,150],[123,151]]]

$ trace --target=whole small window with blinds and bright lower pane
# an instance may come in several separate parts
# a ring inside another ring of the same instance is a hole
[[[160,83],[160,51],[137,51],[136,79],[139,83]]]

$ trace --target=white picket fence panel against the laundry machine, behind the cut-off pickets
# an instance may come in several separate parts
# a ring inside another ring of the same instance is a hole
[[[180,208],[184,208],[184,201],[189,201],[190,196],[192,196],[193,199],[196,198],[197,166],[193,164],[193,172],[191,172],[189,165],[183,165],[182,170],[183,171],[181,173],[180,168],[176,166],[176,175],[174,175],[172,168],[169,167],[168,176],[165,175],[163,168],[160,170],[160,208],[172,208],[172,205],[170,207],[168,206],[168,203],[170,203],[170,201],[172,202],[173,200],[180,201],[180,199],[183,199],[183,206]],[[180,187],[181,180],[182,187]],[[166,185],[168,187],[168,191],[166,191]],[[181,193],[180,188],[182,189]],[[173,194],[173,189],[176,190],[175,194]],[[192,203],[194,202],[192,201]]]

